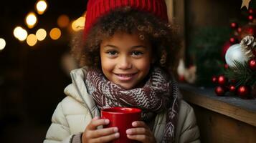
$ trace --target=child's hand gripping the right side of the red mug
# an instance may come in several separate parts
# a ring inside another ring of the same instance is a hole
[[[133,122],[134,128],[127,129],[128,139],[133,139],[143,143],[156,143],[156,139],[149,127],[142,121]]]

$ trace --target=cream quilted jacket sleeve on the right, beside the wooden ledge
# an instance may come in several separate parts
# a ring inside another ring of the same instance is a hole
[[[194,114],[194,109],[187,104],[186,102],[182,101],[181,104],[184,108],[179,111],[179,116],[182,116],[183,119],[178,121],[181,125],[179,131],[179,143],[190,142],[190,143],[199,143],[199,127],[196,124],[196,117]]]

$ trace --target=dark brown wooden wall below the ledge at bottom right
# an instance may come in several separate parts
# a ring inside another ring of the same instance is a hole
[[[193,105],[202,143],[255,143],[256,127]]]

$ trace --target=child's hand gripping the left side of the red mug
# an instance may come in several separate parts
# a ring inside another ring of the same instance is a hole
[[[110,142],[117,139],[120,134],[117,127],[97,129],[100,125],[109,124],[108,119],[93,118],[82,133],[82,143]]]

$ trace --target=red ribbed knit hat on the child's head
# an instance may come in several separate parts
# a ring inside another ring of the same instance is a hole
[[[85,17],[85,37],[100,16],[123,6],[131,6],[132,9],[149,12],[164,21],[168,21],[164,0],[89,0]]]

